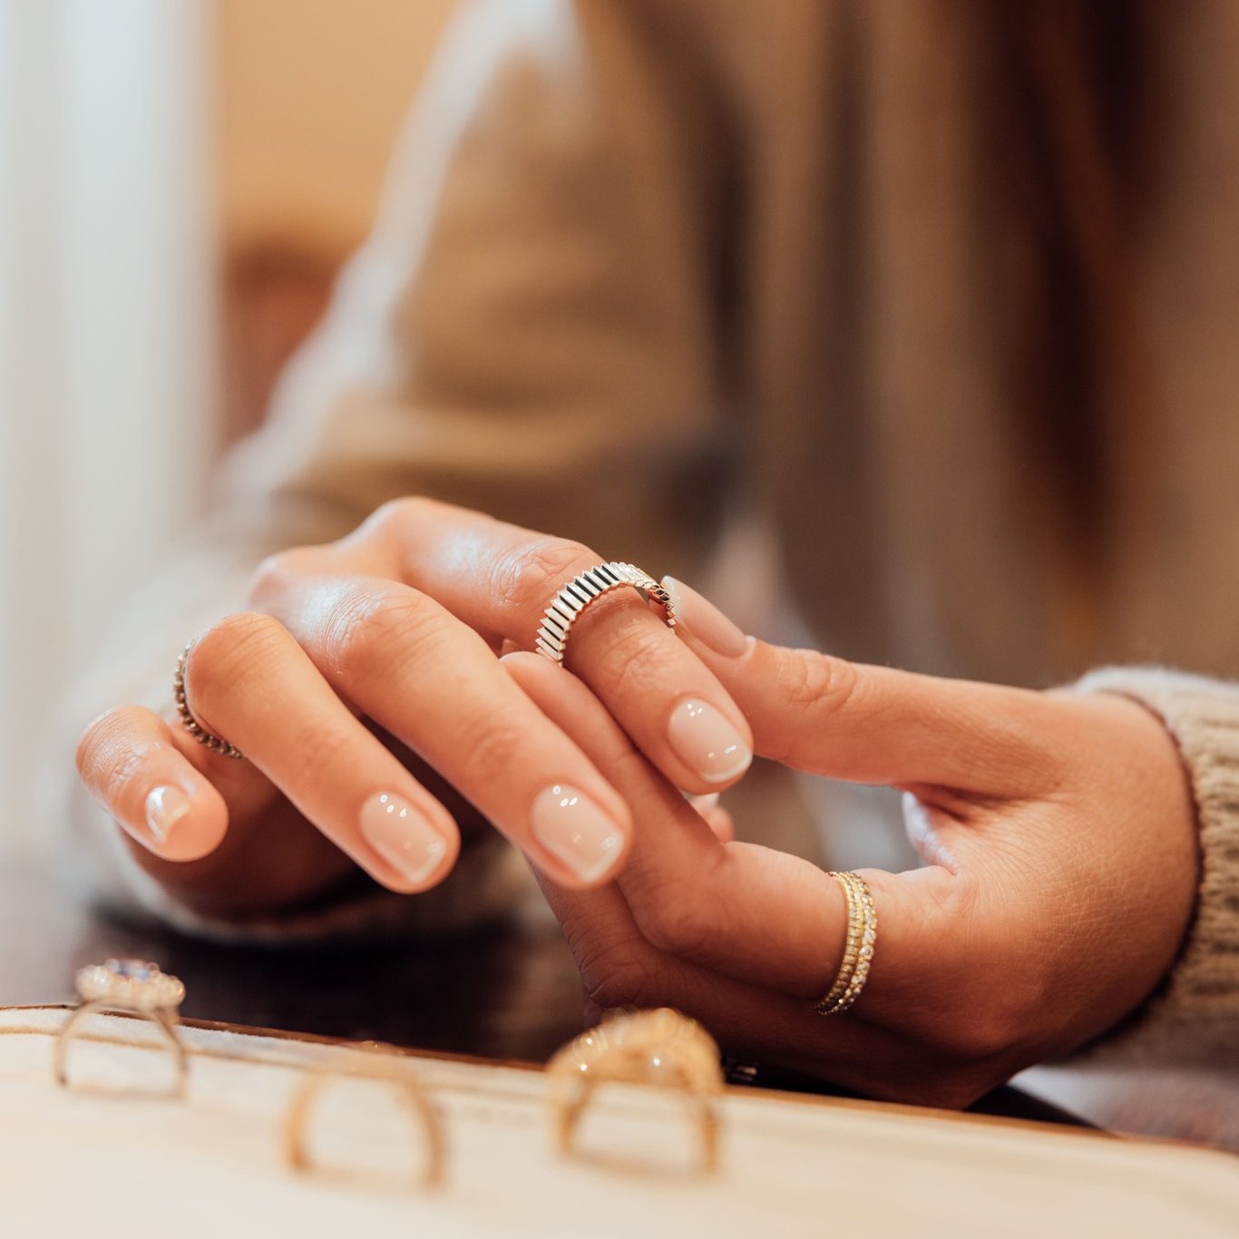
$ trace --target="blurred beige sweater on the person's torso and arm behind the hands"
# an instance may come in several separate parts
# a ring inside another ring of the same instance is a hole
[[[1115,510],[1087,581],[1067,565],[1088,530],[1056,517],[1012,415],[1017,322],[995,307],[1026,238],[983,195],[968,12],[473,9],[271,425],[76,722],[166,696],[180,642],[243,603],[266,549],[409,493],[690,581],[722,519],[756,510],[817,639],[850,657],[1032,685],[1099,662],[1233,673],[1239,6],[1193,4],[1156,48],[1166,160],[1131,264],[1147,408],[1099,418]],[[1229,729],[1199,737],[1211,768],[1234,760]],[[94,872],[131,898],[113,833],[79,794],[69,817],[73,854],[109,850]]]

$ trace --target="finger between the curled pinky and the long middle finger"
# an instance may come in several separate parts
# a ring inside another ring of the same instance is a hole
[[[426,890],[452,869],[451,814],[353,716],[269,616],[232,616],[191,648],[186,698],[337,847],[384,886]]]

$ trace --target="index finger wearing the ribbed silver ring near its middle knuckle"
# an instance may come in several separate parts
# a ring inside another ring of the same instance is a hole
[[[601,556],[429,501],[382,509],[354,535],[387,548],[384,575],[437,598],[496,648],[532,649],[556,595]],[[743,714],[634,590],[591,602],[571,628],[567,667],[607,704],[646,756],[689,792],[735,783],[752,761]]]

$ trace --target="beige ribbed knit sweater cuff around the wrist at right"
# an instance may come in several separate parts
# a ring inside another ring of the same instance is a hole
[[[1196,909],[1175,966],[1085,1053],[1114,1063],[1239,1064],[1239,684],[1105,668],[1077,688],[1131,698],[1165,724],[1191,781],[1201,847]]]

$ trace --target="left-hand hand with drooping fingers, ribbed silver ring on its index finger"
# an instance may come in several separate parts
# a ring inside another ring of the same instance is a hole
[[[190,709],[244,761],[197,743],[171,709],[120,706],[82,736],[83,782],[198,907],[271,908],[351,864],[394,891],[439,883],[460,830],[413,755],[556,882],[607,882],[628,807],[497,659],[529,648],[550,600],[601,558],[426,499],[385,504],[338,543],[266,560],[253,610],[195,641]],[[743,715],[634,591],[589,607],[567,665],[676,787],[716,792],[747,769]]]

